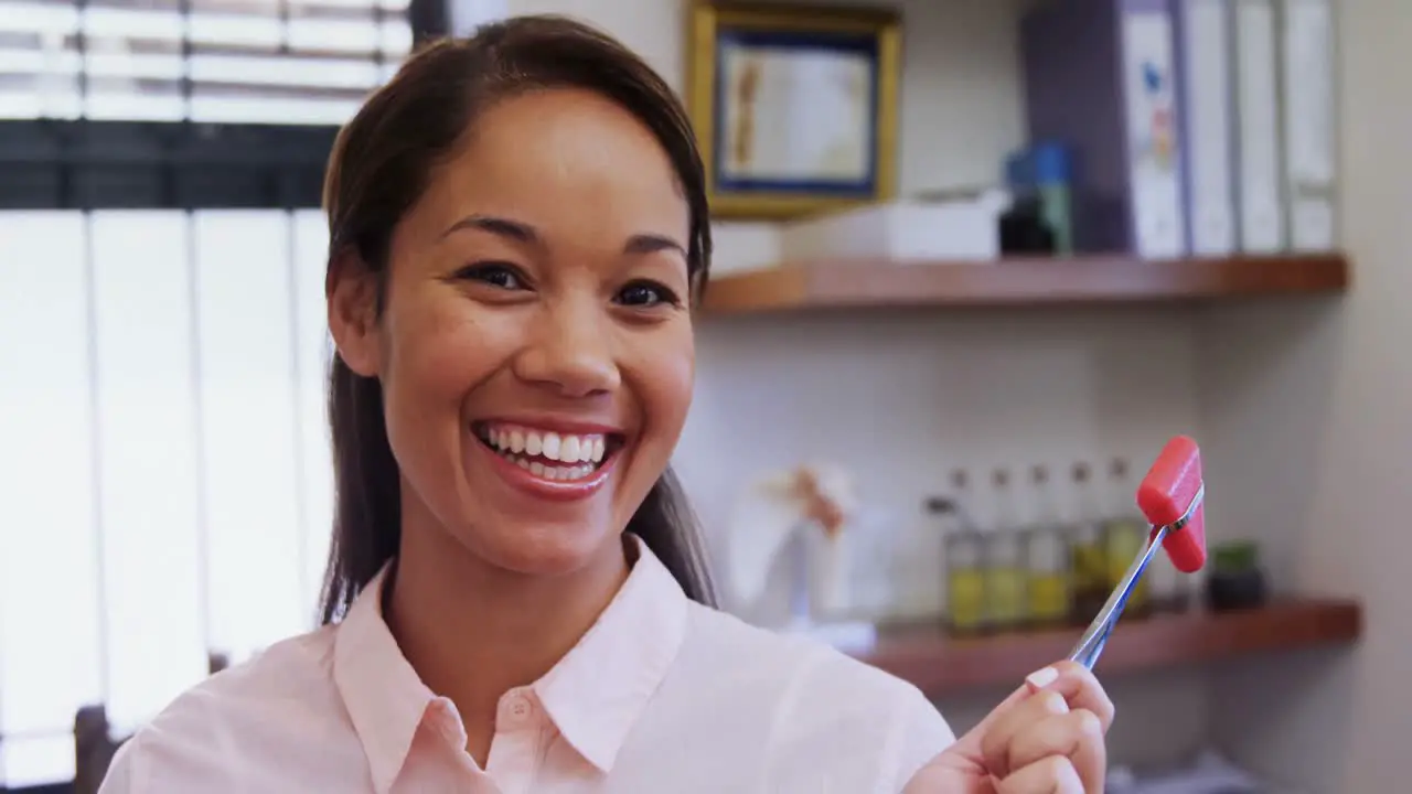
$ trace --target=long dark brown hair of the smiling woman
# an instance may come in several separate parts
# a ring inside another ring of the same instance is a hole
[[[470,38],[442,40],[414,54],[347,123],[333,144],[323,185],[329,274],[354,253],[377,275],[378,312],[393,229],[476,117],[530,90],[578,88],[633,113],[666,151],[690,209],[688,268],[699,298],[710,264],[706,179],[690,122],[671,88],[611,37],[562,17],[520,17],[484,25]],[[321,619],[337,620],[397,555],[401,494],[387,441],[377,379],[361,377],[335,355],[329,422],[337,503],[323,581]],[[671,469],[652,486],[627,530],[647,543],[686,595],[713,593],[696,523]]]

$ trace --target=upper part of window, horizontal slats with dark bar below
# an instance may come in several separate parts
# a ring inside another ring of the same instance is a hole
[[[0,209],[318,206],[339,126],[446,11],[0,0]]]

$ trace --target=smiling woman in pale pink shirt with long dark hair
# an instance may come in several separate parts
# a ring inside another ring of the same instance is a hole
[[[431,45],[342,130],[325,208],[326,624],[178,698],[104,791],[901,791],[952,746],[915,687],[710,608],[668,468],[705,177],[635,55],[549,17]],[[1014,794],[1101,790],[1084,674],[923,790],[980,791],[983,750]]]

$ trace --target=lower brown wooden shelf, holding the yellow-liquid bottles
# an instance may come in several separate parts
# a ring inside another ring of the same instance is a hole
[[[947,637],[932,626],[884,630],[860,660],[911,681],[929,697],[986,685],[1018,685],[1065,658],[1079,629]],[[1282,599],[1231,613],[1192,612],[1124,620],[1108,637],[1097,672],[1131,672],[1243,656],[1357,641],[1363,609],[1348,600]]]

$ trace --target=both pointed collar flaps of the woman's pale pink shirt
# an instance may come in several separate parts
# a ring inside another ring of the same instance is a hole
[[[686,636],[688,599],[647,544],[589,632],[532,689],[559,735],[609,771],[633,725],[666,678]],[[333,680],[367,754],[374,788],[391,788],[436,695],[422,684],[383,620],[383,568],[337,629]]]

